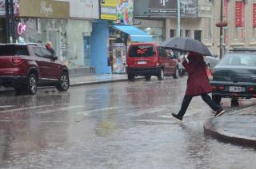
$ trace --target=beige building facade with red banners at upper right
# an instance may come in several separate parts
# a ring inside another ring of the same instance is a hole
[[[220,22],[221,1],[214,1],[214,22]],[[256,48],[256,1],[223,0],[223,49]],[[214,51],[219,53],[220,29],[214,26]]]

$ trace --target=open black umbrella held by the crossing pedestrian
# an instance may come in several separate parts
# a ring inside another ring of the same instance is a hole
[[[190,37],[173,37],[163,41],[160,46],[181,52],[196,52],[205,56],[212,56],[206,45]]]

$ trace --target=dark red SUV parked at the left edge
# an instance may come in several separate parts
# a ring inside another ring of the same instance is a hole
[[[68,68],[40,45],[0,45],[0,85],[31,95],[38,86],[56,86],[66,91],[70,86]]]

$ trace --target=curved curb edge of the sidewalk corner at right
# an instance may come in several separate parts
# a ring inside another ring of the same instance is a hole
[[[218,126],[214,125],[212,121],[216,117],[206,120],[204,124],[204,132],[206,135],[213,137],[216,140],[222,141],[224,143],[232,143],[234,145],[243,146],[243,147],[254,147],[256,148],[256,140],[250,140],[243,138],[242,136],[232,136],[231,133],[226,132],[223,134],[218,132]],[[217,117],[218,118],[218,117]]]

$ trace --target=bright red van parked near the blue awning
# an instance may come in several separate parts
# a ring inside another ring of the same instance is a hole
[[[150,81],[151,76],[157,76],[159,81],[164,76],[178,78],[178,63],[167,52],[155,43],[130,45],[126,56],[128,80],[134,81],[137,76],[145,76],[146,81]]]

